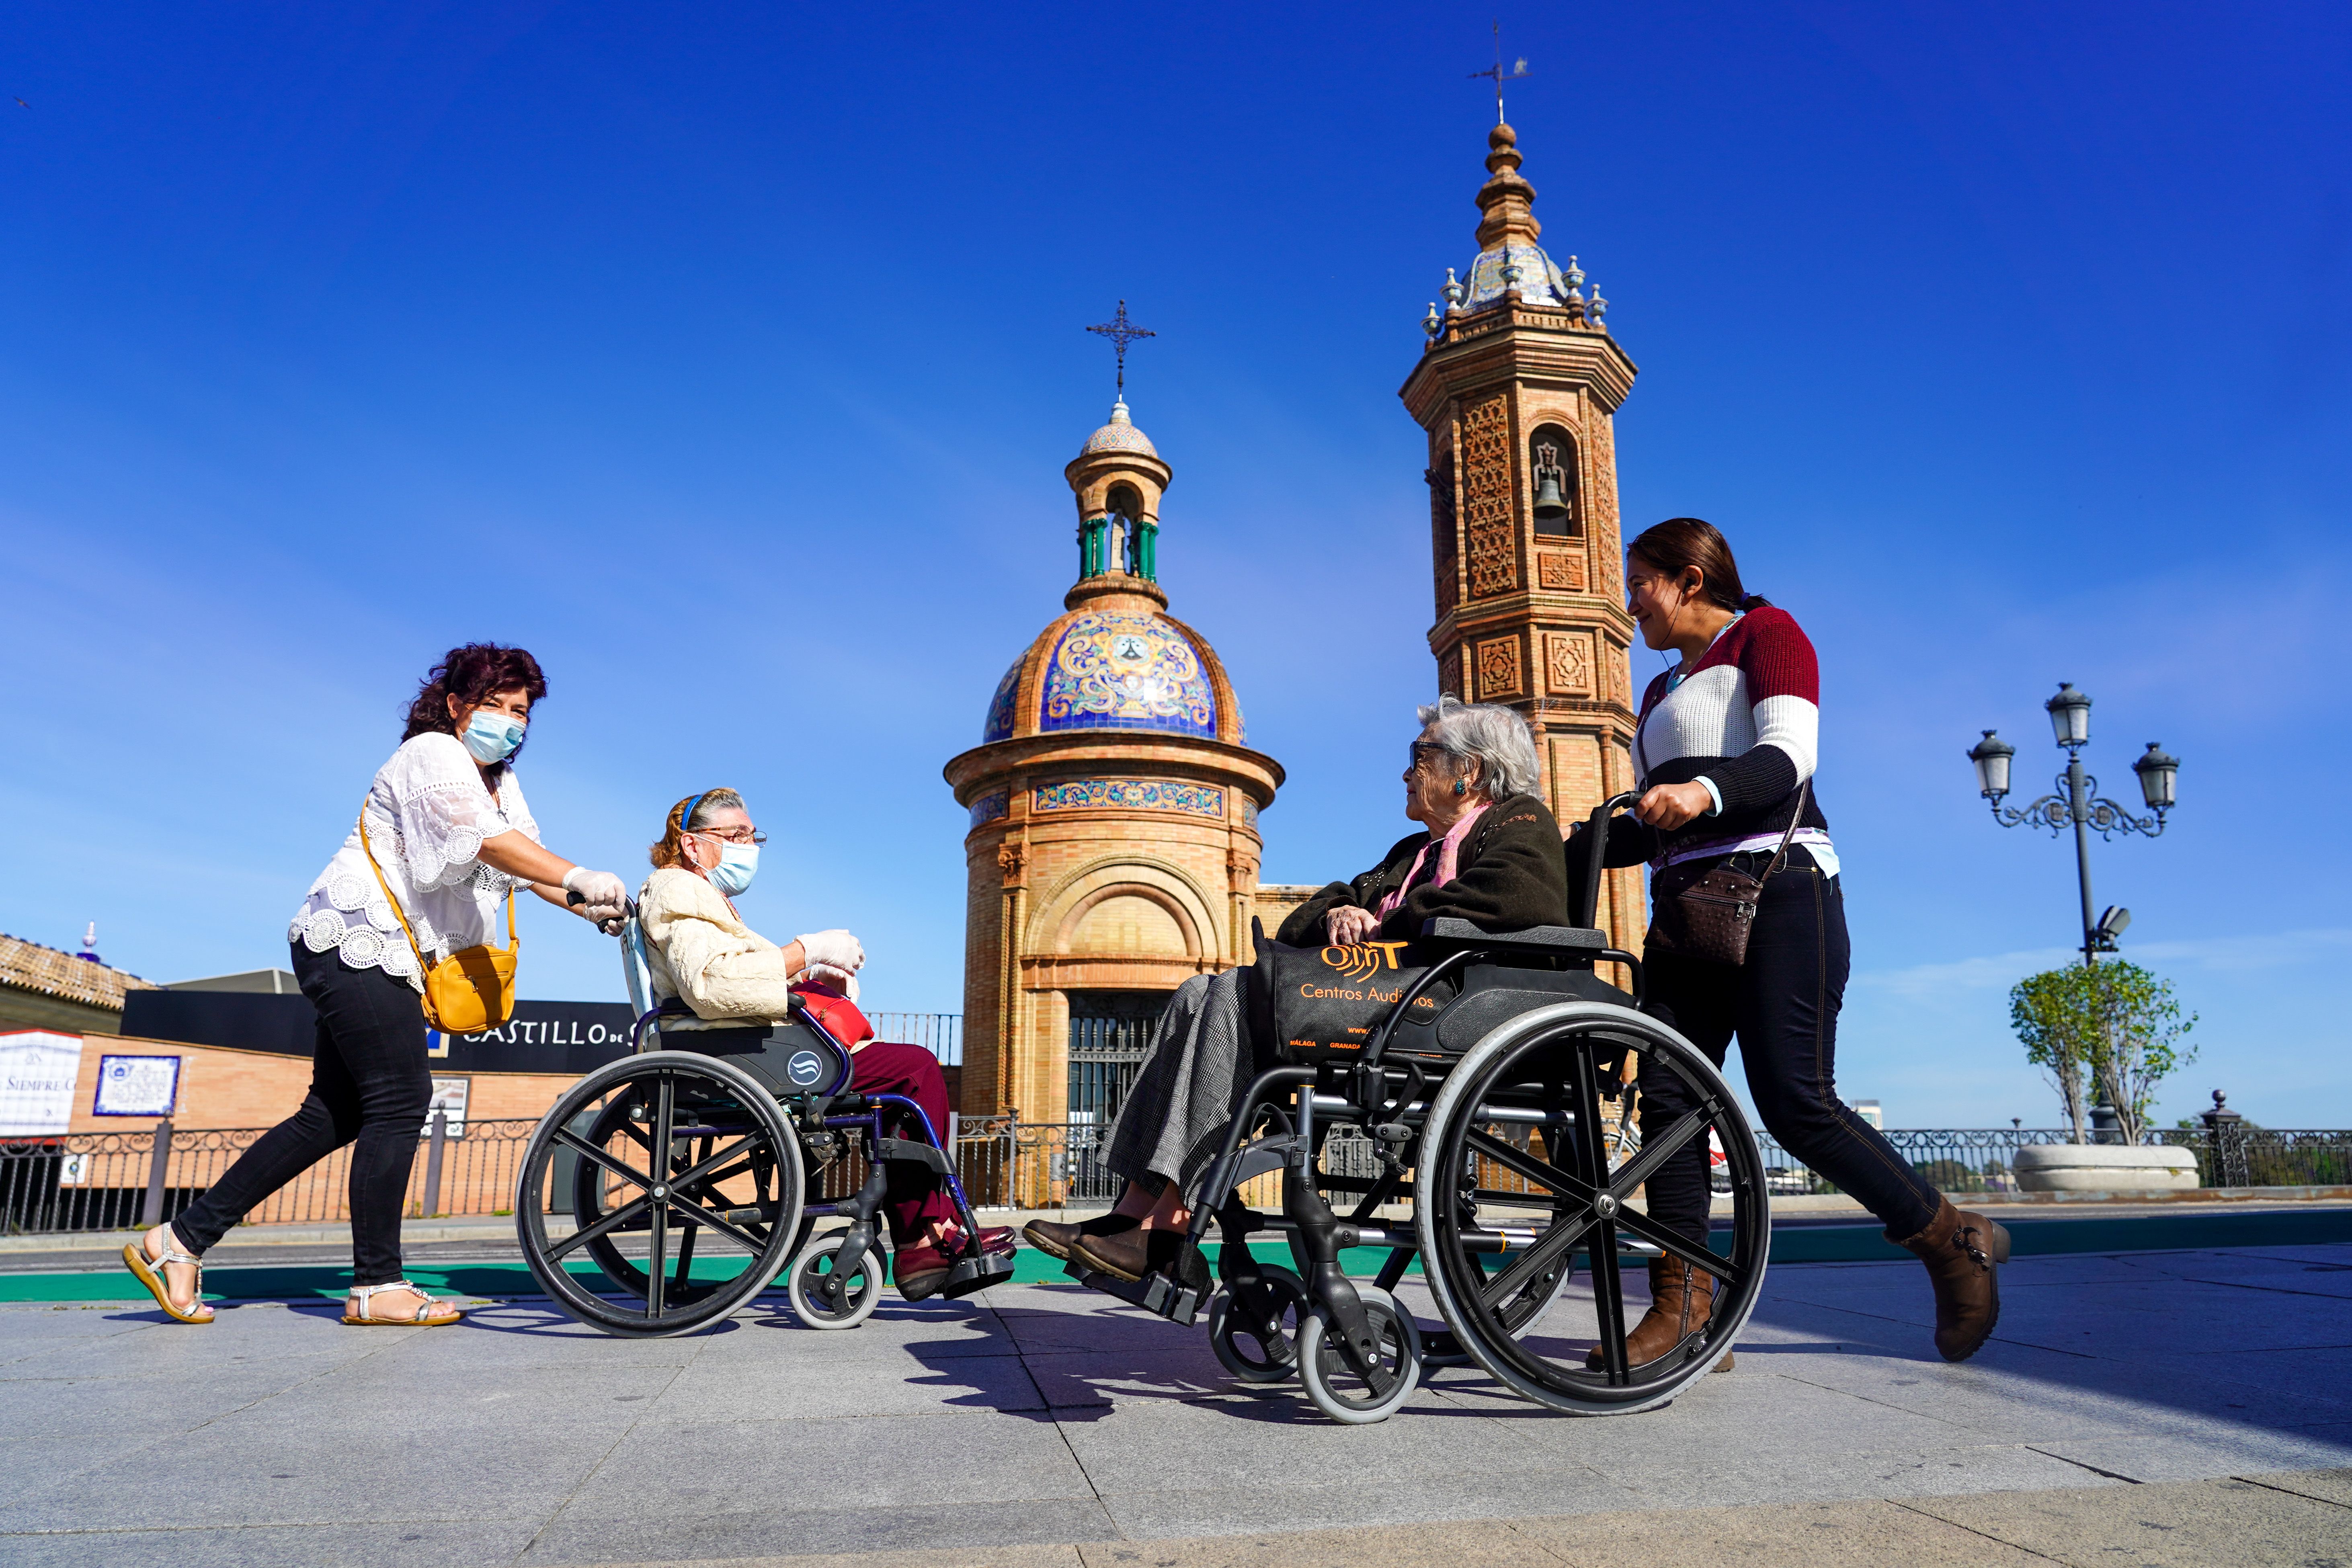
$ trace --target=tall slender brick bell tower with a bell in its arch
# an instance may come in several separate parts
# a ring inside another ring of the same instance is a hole
[[[1519,136],[1486,136],[1477,261],[1446,268],[1421,364],[1399,397],[1430,435],[1437,686],[1505,703],[1536,729],[1562,827],[1632,788],[1635,625],[1625,614],[1611,416],[1635,367],[1602,324],[1606,301],[1536,244]],[[1602,889],[1599,926],[1639,952],[1642,872]]]

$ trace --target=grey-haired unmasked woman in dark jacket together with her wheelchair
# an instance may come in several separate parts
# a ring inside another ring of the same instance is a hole
[[[1176,992],[1110,1135],[1108,1164],[1129,1178],[1117,1211],[1028,1237],[1162,1316],[1207,1307],[1235,1378],[1296,1375],[1343,1422],[1402,1406],[1423,1363],[1463,1361],[1557,1410],[1653,1408],[1729,1354],[1762,1286],[1755,1138],[1712,1063],[1597,978],[1611,961],[1642,985],[1595,929],[1597,849],[1569,910],[1524,719],[1454,698],[1418,717],[1404,809],[1423,830],[1301,905],[1256,964]],[[1602,804],[1578,853],[1623,804]],[[1684,1081],[1693,1107],[1632,1157],[1602,1112],[1628,1053]],[[1649,1171],[1710,1135],[1731,1187],[1715,1251],[1639,1208]],[[1279,1213],[1254,1211],[1244,1182],[1277,1171]],[[1211,1222],[1221,1291],[1202,1253]],[[1296,1272],[1256,1253],[1261,1229]],[[1371,1284],[1348,1276],[1352,1248],[1385,1251]],[[1722,1307],[1632,1363],[1621,1255],[1661,1253],[1705,1265]],[[1390,1295],[1416,1260],[1446,1324],[1428,1345]],[[1590,1298],[1571,1291],[1578,1267]]]

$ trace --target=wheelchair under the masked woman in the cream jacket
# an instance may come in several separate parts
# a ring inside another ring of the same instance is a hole
[[[981,1227],[938,1145],[903,1095],[849,1091],[849,1048],[793,999],[783,1025],[663,1030],[691,1016],[652,1006],[652,969],[635,905],[621,926],[621,971],[637,1013],[630,1056],[574,1084],[539,1121],[515,1178],[515,1232],[541,1288],[612,1335],[661,1338],[727,1319],[786,1276],[807,1328],[856,1328],[882,1300],[889,1265],[875,1215],[887,1161],[946,1178],[964,1255],[941,1295],[969,1295],[1014,1272],[981,1248]],[[922,1140],[884,1131],[896,1114]],[[866,1180],[842,1201],[807,1201],[826,1166],[863,1154]],[[574,1229],[548,1234],[548,1201],[569,1201]],[[816,1232],[818,1220],[849,1220]],[[597,1288],[619,1286],[614,1298]]]

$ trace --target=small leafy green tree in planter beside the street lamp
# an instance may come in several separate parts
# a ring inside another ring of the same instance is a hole
[[[2025,1060],[2065,1103],[2074,1143],[2084,1133],[2084,1088],[2098,1084],[2114,1107],[2124,1143],[2147,1133],[2147,1107],[2157,1081],[2197,1060],[2178,1041],[2197,1016],[2180,1018],[2171,980],[2138,964],[2070,964],[2027,976],[2009,992],[2009,1023],[2025,1041]]]

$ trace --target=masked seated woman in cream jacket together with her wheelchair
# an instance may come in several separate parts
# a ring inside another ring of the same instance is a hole
[[[541,1281],[614,1333],[713,1321],[767,1286],[786,1255],[802,1321],[854,1326],[880,1295],[877,1213],[908,1300],[964,1295],[1011,1274],[1011,1232],[974,1225],[941,1147],[948,1088],[938,1060],[922,1046],[877,1041],[856,1009],[858,940],[814,931],[779,947],[736,912],[764,837],[734,790],[689,795],[670,809],[649,851],[654,875],[621,931],[630,992],[647,1009],[640,1037],[654,1039],[581,1079],[524,1154],[527,1194],[550,1173],[562,1187],[557,1147],[579,1157],[574,1192],[557,1192],[576,1201],[569,1241],[534,1234],[539,1204],[517,1199],[515,1211]],[[804,1161],[835,1161],[858,1138],[868,1178],[856,1197],[802,1206]],[[811,1241],[818,1218],[851,1225]],[[637,1232],[647,1234],[649,1265],[614,1244]],[[696,1241],[731,1244],[734,1253],[696,1272]],[[644,1309],[609,1309],[572,1281],[562,1269],[572,1246],[644,1295]]]

